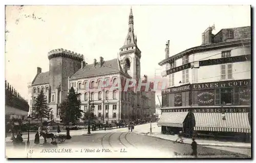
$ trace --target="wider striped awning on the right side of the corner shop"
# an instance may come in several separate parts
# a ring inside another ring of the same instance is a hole
[[[250,133],[248,112],[226,112],[225,120],[219,112],[195,112],[197,131],[245,132]]]

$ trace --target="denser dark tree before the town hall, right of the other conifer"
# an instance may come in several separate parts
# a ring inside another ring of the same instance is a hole
[[[63,101],[59,106],[60,118],[65,123],[75,123],[82,117],[82,110],[80,109],[81,101],[78,99],[79,94],[76,94],[73,87],[69,90],[67,100]]]

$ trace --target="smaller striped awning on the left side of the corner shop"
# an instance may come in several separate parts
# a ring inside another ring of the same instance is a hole
[[[183,127],[188,112],[162,112],[158,126]]]

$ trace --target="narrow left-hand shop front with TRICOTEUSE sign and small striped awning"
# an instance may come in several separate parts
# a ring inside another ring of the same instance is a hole
[[[177,134],[182,131],[189,136],[193,126],[190,124],[189,111],[178,112],[176,108],[186,109],[190,106],[191,85],[181,85],[178,87],[170,87],[162,96],[163,108],[161,108],[161,118],[158,126],[161,126],[163,134]],[[190,128],[189,128],[190,127]]]

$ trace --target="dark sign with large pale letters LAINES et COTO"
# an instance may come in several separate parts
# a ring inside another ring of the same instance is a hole
[[[229,80],[229,81],[220,81],[220,82],[209,82],[209,83],[196,83],[191,84],[192,89],[212,89],[212,88],[226,88],[226,87],[241,87],[241,86],[250,86],[250,79],[245,80]]]

